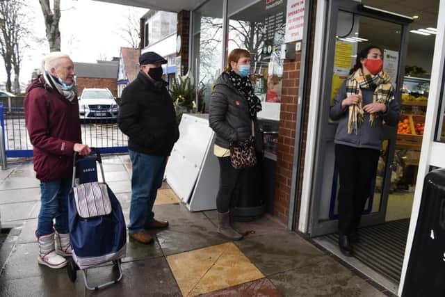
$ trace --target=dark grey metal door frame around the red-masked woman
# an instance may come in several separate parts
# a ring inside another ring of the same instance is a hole
[[[323,234],[328,234],[337,231],[337,220],[319,220],[320,217],[320,206],[321,206],[321,186],[323,181],[323,159],[325,156],[326,148],[324,143],[329,141],[326,137],[330,131],[335,129],[337,125],[330,125],[327,123],[329,104],[326,104],[325,98],[330,97],[332,90],[332,74],[334,68],[334,53],[335,53],[335,42],[337,35],[337,20],[339,11],[346,13],[355,13],[362,17],[370,17],[373,19],[378,19],[380,21],[389,22],[401,26],[401,42],[400,42],[400,54],[398,61],[398,77],[396,82],[398,86],[401,86],[403,81],[403,70],[405,67],[405,57],[407,51],[407,35],[408,26],[412,19],[403,17],[401,15],[392,15],[378,10],[363,9],[362,4],[352,0],[338,0],[329,1],[327,5],[327,22],[325,24],[325,40],[324,40],[324,52],[323,52],[323,70],[321,80],[321,90],[320,90],[320,102],[318,107],[318,127],[316,128],[316,145],[314,152],[314,176],[312,178],[312,190],[311,190],[311,211],[309,218],[309,234],[311,236],[318,236]],[[396,90],[396,100],[400,102],[401,94],[400,88]],[[331,131],[332,132],[332,131]],[[309,131],[308,131],[309,134]],[[333,132],[331,133],[333,135]],[[331,135],[329,134],[329,135]],[[371,213],[362,218],[362,225],[375,225],[382,223],[385,220],[387,198],[389,192],[389,176],[391,175],[392,159],[395,152],[395,142],[396,142],[396,127],[385,127],[384,131],[385,139],[389,139],[389,145],[387,148],[387,160],[385,164],[385,176],[384,184],[382,188],[382,197],[380,204],[380,211]],[[333,137],[332,137],[333,138]],[[333,139],[332,139],[333,141]],[[307,176],[305,176],[307,178]]]

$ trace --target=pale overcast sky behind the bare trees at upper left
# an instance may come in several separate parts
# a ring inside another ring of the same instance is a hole
[[[28,3],[29,27],[37,38],[45,38],[44,20],[38,0],[25,0]],[[50,1],[52,3],[52,1]],[[75,62],[95,63],[99,58],[111,60],[119,56],[120,47],[129,44],[120,36],[120,29],[127,25],[128,15],[139,19],[145,8],[130,8],[117,4],[91,0],[61,0],[60,17],[61,51],[69,54]],[[34,68],[40,67],[42,57],[49,52],[47,44],[31,40],[33,50],[24,57],[20,81],[28,83]],[[11,77],[13,80],[13,77]],[[6,81],[3,59],[0,62],[0,81]]]

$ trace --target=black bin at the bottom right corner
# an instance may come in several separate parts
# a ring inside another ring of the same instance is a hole
[[[445,296],[445,168],[425,177],[402,296]]]

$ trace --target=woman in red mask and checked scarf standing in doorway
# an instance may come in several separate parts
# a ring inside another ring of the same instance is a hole
[[[366,199],[377,170],[383,141],[382,125],[397,125],[400,105],[391,78],[382,70],[382,49],[366,47],[357,55],[350,76],[341,85],[330,118],[338,120],[335,163],[339,170],[339,248],[353,255]]]

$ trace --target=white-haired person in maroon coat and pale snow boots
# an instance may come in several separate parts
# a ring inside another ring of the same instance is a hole
[[[33,145],[34,170],[40,180],[40,214],[35,236],[38,263],[51,268],[67,264],[71,255],[68,230],[68,194],[73,154],[90,154],[81,141],[79,103],[74,64],[69,56],[52,52],[42,61],[43,74],[26,88],[26,128]]]

